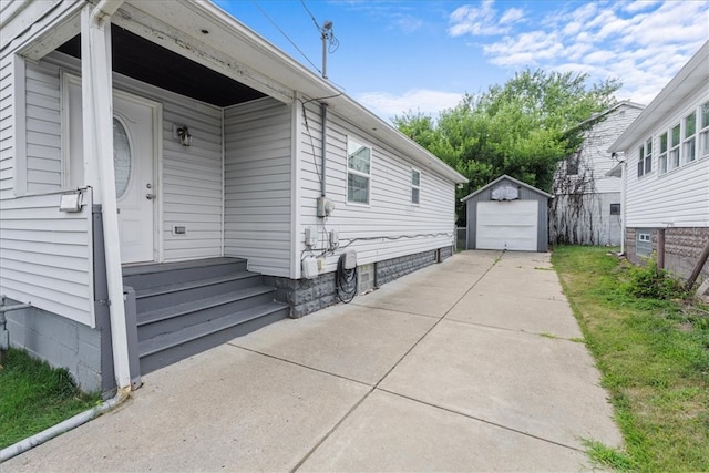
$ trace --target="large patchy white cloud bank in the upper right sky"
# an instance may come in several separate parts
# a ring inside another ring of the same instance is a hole
[[[511,9],[515,10],[515,9]],[[649,103],[707,41],[709,2],[610,0],[572,3],[534,17],[507,10],[497,21],[492,0],[450,16],[449,34],[493,35],[482,45],[492,64],[587,72],[618,79],[618,99]],[[502,22],[508,14],[510,23]]]

